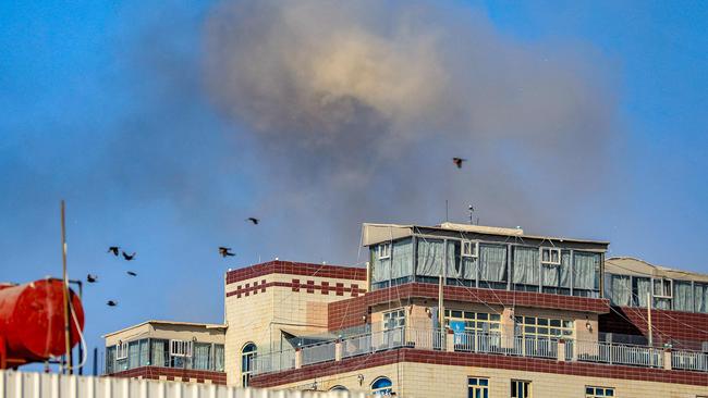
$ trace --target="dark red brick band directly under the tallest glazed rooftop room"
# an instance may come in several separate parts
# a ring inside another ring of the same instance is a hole
[[[533,307],[552,310],[566,310],[591,313],[610,312],[607,299],[550,295],[532,291],[508,291],[445,286],[445,300],[478,302],[499,306]],[[367,293],[356,299],[335,301],[328,304],[328,328],[338,331],[362,325],[371,306],[389,301],[405,301],[411,298],[438,299],[438,286],[434,284],[410,283]]]

